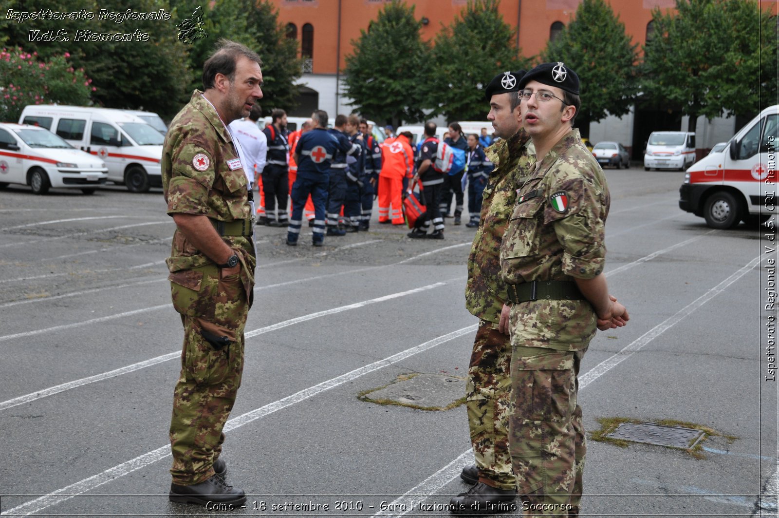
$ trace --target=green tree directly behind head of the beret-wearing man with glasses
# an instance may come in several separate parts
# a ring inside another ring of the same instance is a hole
[[[583,0],[574,20],[541,53],[564,62],[579,76],[582,92],[576,126],[589,135],[590,122],[629,112],[638,92],[638,55],[625,24],[604,0]]]

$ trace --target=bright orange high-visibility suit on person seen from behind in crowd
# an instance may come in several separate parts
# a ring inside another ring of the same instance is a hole
[[[382,171],[379,172],[379,223],[392,219],[393,225],[405,224],[403,179],[412,176],[414,150],[407,137],[399,135],[385,140],[382,144]]]

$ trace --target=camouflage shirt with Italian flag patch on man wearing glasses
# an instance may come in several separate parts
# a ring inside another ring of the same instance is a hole
[[[581,143],[579,130],[570,131],[517,193],[500,249],[502,279],[519,284],[600,274],[609,203],[601,166]],[[534,300],[514,309],[513,346],[583,349],[595,334],[587,300]]]

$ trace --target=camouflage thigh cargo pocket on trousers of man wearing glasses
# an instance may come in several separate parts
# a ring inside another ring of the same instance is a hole
[[[548,351],[512,357],[514,415],[522,420],[568,422],[576,410],[574,353]]]

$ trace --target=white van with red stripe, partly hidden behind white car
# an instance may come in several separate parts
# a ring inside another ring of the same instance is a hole
[[[29,105],[19,123],[42,126],[82,151],[97,155],[108,179],[133,193],[162,186],[164,137],[128,110],[82,106]]]

